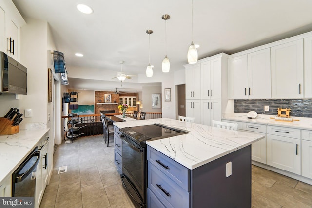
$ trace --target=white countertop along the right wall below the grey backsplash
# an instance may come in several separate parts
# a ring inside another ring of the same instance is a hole
[[[253,119],[247,118],[247,113],[233,113],[229,115],[224,115],[222,119],[225,120],[234,120],[240,122],[249,122],[249,123],[258,123],[258,124],[266,124],[266,125],[273,125],[273,126],[281,126],[281,127],[291,127],[296,129],[306,129],[312,130],[312,118],[305,118],[305,117],[291,117],[292,119],[299,120],[299,121],[275,121],[275,115],[257,115],[257,117]]]

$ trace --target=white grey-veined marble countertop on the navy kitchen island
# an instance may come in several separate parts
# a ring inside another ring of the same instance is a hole
[[[169,118],[117,122],[114,125],[124,128],[154,123],[162,123],[190,132],[146,141],[146,144],[191,170],[264,138],[260,134],[219,129]]]

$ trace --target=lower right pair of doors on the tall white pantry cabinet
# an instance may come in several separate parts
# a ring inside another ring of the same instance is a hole
[[[201,124],[211,126],[212,120],[221,121],[221,99],[201,100]]]

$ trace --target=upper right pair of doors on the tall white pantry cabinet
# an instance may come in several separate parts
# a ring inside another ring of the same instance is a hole
[[[201,99],[221,99],[221,57],[201,63]]]

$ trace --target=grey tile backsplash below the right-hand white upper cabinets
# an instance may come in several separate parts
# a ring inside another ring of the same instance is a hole
[[[277,108],[290,108],[291,116],[312,118],[312,99],[275,99],[275,100],[234,100],[234,113],[264,112],[264,106],[269,106],[265,115],[277,115]]]

